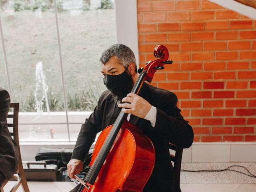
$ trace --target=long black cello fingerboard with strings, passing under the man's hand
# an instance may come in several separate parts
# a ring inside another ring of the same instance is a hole
[[[132,88],[132,91],[131,92],[135,92],[136,89],[138,89],[138,84],[141,84],[144,78],[144,74],[145,72],[141,72],[139,77],[138,77],[138,80],[136,80],[136,83],[134,84],[133,88]],[[120,113],[121,114],[121,113]],[[117,124],[119,121],[120,121],[120,118],[121,118],[121,115],[118,115],[118,118],[115,122],[115,124]],[[114,136],[114,132],[116,131],[116,129],[118,127],[116,127],[114,124],[113,128],[110,130],[110,133],[109,135],[107,136],[107,139],[105,140],[102,148],[100,149],[100,152],[99,154],[97,155],[96,157],[96,160],[94,161],[92,167],[90,168],[90,170],[88,171],[88,174],[86,175],[85,177],[85,180],[88,180],[88,178],[90,179],[90,177],[92,176],[92,174],[96,171],[96,169],[98,168],[98,165],[100,163],[100,160],[103,158],[104,156],[104,152],[106,151],[106,149],[108,148],[108,143],[110,142],[110,140],[112,139],[112,137]]]

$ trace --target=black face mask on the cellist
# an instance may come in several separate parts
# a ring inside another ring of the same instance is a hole
[[[119,75],[106,75],[103,78],[104,85],[116,97],[116,100],[122,100],[132,90],[132,75],[126,70]]]

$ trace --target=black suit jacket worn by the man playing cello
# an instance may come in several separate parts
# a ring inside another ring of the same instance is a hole
[[[108,90],[103,92],[94,112],[82,124],[72,159],[84,160],[96,134],[106,126],[114,124],[121,108],[116,106],[110,94]],[[139,96],[157,108],[154,127],[148,120],[136,116],[130,118],[130,122],[142,128],[144,134],[150,138],[156,153],[154,170],[143,191],[179,192],[180,187],[170,163],[168,143],[189,148],[194,139],[192,127],[180,114],[180,109],[176,106],[178,100],[174,93],[144,83]]]

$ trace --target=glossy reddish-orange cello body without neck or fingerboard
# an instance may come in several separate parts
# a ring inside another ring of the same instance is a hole
[[[106,127],[100,134],[90,166],[112,126]],[[125,120],[94,184],[82,192],[142,192],[153,171],[154,162],[151,140],[142,134],[140,128]]]

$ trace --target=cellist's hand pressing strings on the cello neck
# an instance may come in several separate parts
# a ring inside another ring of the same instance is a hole
[[[152,106],[149,102],[144,100],[144,98],[136,95],[135,93],[129,93],[125,98],[122,99],[122,102],[123,103],[118,104],[118,107],[122,107],[122,112],[130,113],[139,118],[146,117]]]

